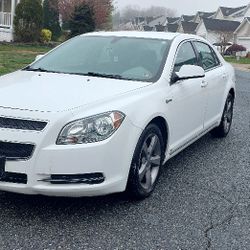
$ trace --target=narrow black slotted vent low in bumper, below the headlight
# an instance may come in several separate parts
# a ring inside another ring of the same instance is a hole
[[[100,184],[104,182],[105,177],[102,173],[90,173],[90,174],[54,174],[49,179],[43,179],[41,181],[50,182],[51,184]]]

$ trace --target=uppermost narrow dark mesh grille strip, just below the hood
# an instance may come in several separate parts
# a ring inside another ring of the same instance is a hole
[[[0,117],[0,128],[41,131],[47,122]]]

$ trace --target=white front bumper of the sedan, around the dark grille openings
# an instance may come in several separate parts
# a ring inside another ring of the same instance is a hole
[[[43,114],[48,119],[48,114]],[[41,114],[39,114],[39,119]],[[141,129],[129,119],[109,139],[92,144],[56,145],[62,121],[51,114],[44,131],[0,129],[1,141],[32,143],[35,150],[27,160],[6,161],[5,171],[24,174],[27,184],[0,181],[0,190],[48,196],[96,196],[122,192],[126,188],[132,156]],[[53,183],[57,175],[102,173],[99,183]]]

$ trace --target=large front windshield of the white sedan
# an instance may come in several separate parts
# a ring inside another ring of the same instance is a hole
[[[79,36],[24,70],[156,81],[170,40]]]

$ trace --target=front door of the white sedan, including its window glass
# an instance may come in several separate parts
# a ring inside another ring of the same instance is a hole
[[[177,51],[174,72],[182,65],[198,65],[198,59],[190,42],[182,43]],[[170,155],[195,139],[203,131],[206,106],[205,78],[178,81],[170,87],[167,100],[167,118],[170,130]]]

